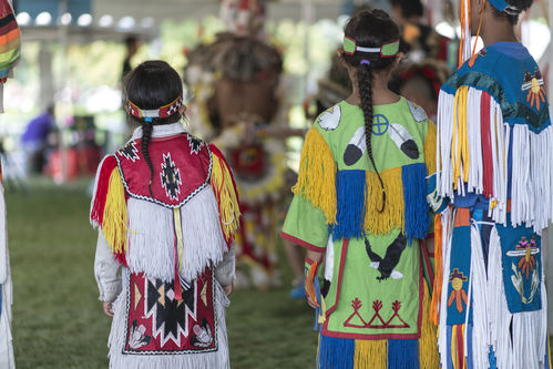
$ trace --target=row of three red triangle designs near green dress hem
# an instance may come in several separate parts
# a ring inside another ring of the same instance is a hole
[[[354,308],[354,312],[349,316],[349,318],[344,322],[345,327],[350,328],[373,328],[373,329],[387,329],[387,328],[409,328],[410,326],[401,318],[399,315],[399,310],[401,309],[401,301],[396,300],[391,304],[391,309],[393,314],[385,320],[380,315],[380,310],[382,310],[383,304],[380,300],[375,300],[372,303],[372,309],[375,314],[369,322],[365,321],[365,319],[359,314],[359,309],[362,307],[362,303],[359,298],[355,298],[351,301],[351,307]],[[357,317],[361,324],[352,324],[351,320]]]

